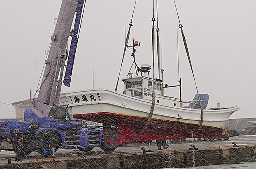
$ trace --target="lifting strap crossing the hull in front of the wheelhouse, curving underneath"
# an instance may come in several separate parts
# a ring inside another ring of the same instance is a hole
[[[155,77],[154,77],[154,63],[155,63],[155,18],[154,18],[154,0],[153,0],[153,25],[152,25],[152,55],[153,55],[153,93],[152,93],[152,104],[151,104],[151,108],[150,108],[150,114],[149,117],[147,119],[147,123],[143,126],[142,130],[140,131],[140,133],[137,135],[137,137],[134,140],[137,140],[138,137],[140,137],[140,135],[142,135],[142,133],[147,129],[147,127],[149,126],[149,123],[151,121],[152,115],[154,113],[154,108],[155,108],[155,86],[154,86],[154,81],[155,81]]]

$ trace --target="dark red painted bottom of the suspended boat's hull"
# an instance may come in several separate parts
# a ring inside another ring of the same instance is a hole
[[[114,113],[91,113],[73,115],[74,118],[85,119],[99,123],[109,123],[119,129],[118,142],[149,141],[149,140],[170,140],[193,137],[219,137],[221,128],[202,126],[201,130],[197,124],[172,122],[159,119],[151,119],[147,129],[136,139],[142,128],[147,124],[147,118],[117,115]]]

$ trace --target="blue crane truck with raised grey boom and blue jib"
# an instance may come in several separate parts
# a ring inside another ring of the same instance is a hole
[[[72,117],[71,109],[58,105],[66,60],[63,83],[70,86],[85,2],[86,0],[62,1],[54,34],[51,36],[42,82],[37,90],[38,97],[31,101],[32,108],[25,109],[24,122],[0,122],[1,140],[9,139],[13,134],[25,138],[21,148],[23,155],[28,155],[32,151],[44,153],[42,135],[45,132],[50,133],[49,137],[53,143],[51,148],[54,148],[54,151],[59,147],[90,151],[95,146],[100,146],[105,151],[109,150],[101,145],[102,127],[87,127],[81,120]],[[74,29],[71,30],[75,14]],[[67,40],[70,36],[72,40],[68,53]],[[31,131],[33,134],[29,134]],[[111,150],[114,150],[113,147]]]

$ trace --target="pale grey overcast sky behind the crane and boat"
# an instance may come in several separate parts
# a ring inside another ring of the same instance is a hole
[[[92,88],[114,90],[126,32],[135,0],[87,0],[74,63],[71,87],[62,92]],[[256,117],[256,1],[177,0],[191,61],[200,93],[209,94],[207,108],[241,106],[231,118]],[[8,0],[0,6],[0,118],[14,118],[12,102],[33,95],[42,71],[45,51],[54,32],[61,0]],[[152,0],[137,0],[130,40],[141,41],[138,65],[152,65]],[[156,17],[156,14],[155,14]],[[163,39],[165,83],[177,85],[177,14],[172,0],[158,0],[158,24]],[[192,100],[196,90],[179,35],[182,99]],[[129,42],[131,45],[131,41]],[[70,43],[69,43],[70,45]],[[121,78],[133,62],[126,52]],[[157,73],[155,73],[157,74]],[[118,92],[123,91],[119,83]],[[165,95],[179,97],[179,90]],[[5,103],[5,104],[2,104]]]

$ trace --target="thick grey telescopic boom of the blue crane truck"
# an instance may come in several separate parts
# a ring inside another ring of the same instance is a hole
[[[46,66],[38,95],[38,102],[42,104],[49,106],[58,105],[65,60],[67,59],[67,40],[69,36],[77,36],[77,32],[70,31],[70,29],[75,12],[77,12],[78,15],[81,1],[84,3],[85,0],[62,1],[54,34],[51,36],[51,47],[45,62]]]

